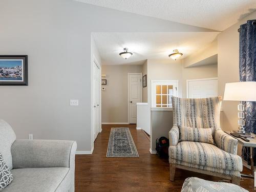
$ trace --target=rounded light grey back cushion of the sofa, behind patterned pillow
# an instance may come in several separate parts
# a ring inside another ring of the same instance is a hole
[[[13,132],[12,127],[3,119],[0,119],[0,133],[0,153],[3,154],[9,169],[12,169],[11,146],[16,139],[16,135]]]

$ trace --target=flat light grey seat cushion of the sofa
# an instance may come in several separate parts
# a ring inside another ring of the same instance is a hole
[[[69,168],[18,168],[12,169],[11,172],[14,179],[3,192],[53,192],[55,190],[58,191],[59,185],[61,185],[69,173]],[[68,182],[71,181],[68,180]],[[67,189],[62,191],[68,191],[70,184],[66,184]]]

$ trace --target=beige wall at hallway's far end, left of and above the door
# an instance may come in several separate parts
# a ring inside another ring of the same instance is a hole
[[[106,74],[105,91],[101,91],[101,119],[104,123],[128,122],[128,73],[141,73],[142,65],[102,65]],[[103,86],[102,86],[103,87]]]

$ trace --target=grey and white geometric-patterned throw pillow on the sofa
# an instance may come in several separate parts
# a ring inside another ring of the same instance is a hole
[[[12,182],[13,176],[0,153],[0,191]]]

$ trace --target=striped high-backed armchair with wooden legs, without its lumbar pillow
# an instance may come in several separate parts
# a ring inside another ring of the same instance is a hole
[[[170,180],[175,169],[217,176],[240,185],[242,159],[237,155],[238,141],[221,130],[221,97],[183,99],[172,97],[173,128],[169,131]],[[180,141],[180,127],[212,128],[215,144]]]

